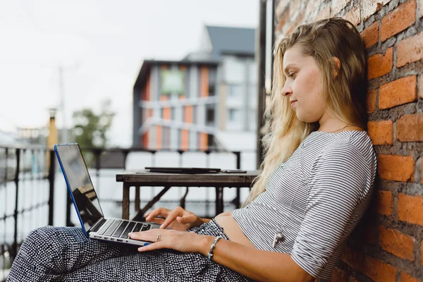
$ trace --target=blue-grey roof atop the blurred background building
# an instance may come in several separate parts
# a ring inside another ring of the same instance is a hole
[[[255,29],[206,25],[212,42],[214,60],[221,54],[255,55]]]

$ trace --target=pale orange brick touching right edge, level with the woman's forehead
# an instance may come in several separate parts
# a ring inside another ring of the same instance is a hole
[[[397,67],[423,59],[423,32],[398,42]]]

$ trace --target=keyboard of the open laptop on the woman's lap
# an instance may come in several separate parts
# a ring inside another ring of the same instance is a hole
[[[146,231],[151,225],[137,223],[134,221],[123,221],[120,219],[111,219],[100,228],[99,235],[110,236],[114,238],[128,239],[128,233]]]

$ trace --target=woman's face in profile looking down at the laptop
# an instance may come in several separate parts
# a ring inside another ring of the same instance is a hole
[[[314,123],[325,115],[323,76],[312,56],[303,56],[298,46],[283,55],[286,77],[281,94],[288,99],[300,121]]]

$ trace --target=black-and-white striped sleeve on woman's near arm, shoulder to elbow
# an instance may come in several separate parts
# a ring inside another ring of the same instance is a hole
[[[341,245],[345,227],[367,191],[368,165],[356,147],[336,143],[314,161],[307,209],[291,257],[314,277]]]

